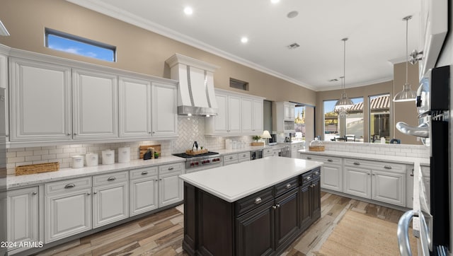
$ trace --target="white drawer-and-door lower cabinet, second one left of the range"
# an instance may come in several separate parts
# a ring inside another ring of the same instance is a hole
[[[130,170],[129,178],[129,215],[134,216],[157,209],[159,206],[157,167]]]

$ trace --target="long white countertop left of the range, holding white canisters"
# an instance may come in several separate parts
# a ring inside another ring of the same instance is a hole
[[[111,165],[86,166],[84,168],[62,168],[55,172],[38,173],[30,175],[7,175],[6,188],[8,190],[18,187],[26,187],[30,185],[40,185],[45,182],[53,182],[57,180],[66,180],[71,178],[86,177],[89,175],[98,175],[102,173],[112,173],[121,170],[133,170],[137,168],[146,168],[153,165],[161,165],[166,163],[185,162],[184,158],[177,156],[163,156],[157,159],[137,159],[130,163],[114,163]]]

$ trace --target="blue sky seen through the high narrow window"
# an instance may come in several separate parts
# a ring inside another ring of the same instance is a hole
[[[57,35],[47,35],[47,47],[62,52],[69,52],[85,57],[102,59],[107,62],[115,62],[115,51],[112,49],[90,45],[85,42],[79,42],[76,40],[71,40],[69,38],[59,37]]]

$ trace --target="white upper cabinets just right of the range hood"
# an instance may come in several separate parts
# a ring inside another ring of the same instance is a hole
[[[241,136],[263,134],[264,98],[216,89],[218,111],[207,117],[205,134]]]

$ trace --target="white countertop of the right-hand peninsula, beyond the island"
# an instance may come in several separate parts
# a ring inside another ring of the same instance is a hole
[[[360,158],[363,160],[379,160],[386,162],[394,163],[408,163],[408,164],[428,164],[430,163],[430,158],[415,158],[408,156],[389,156],[389,155],[380,155],[380,154],[371,154],[371,153],[356,153],[356,152],[347,152],[347,151],[309,151],[308,149],[301,149],[299,153],[306,153],[319,156],[337,156],[343,158]]]

